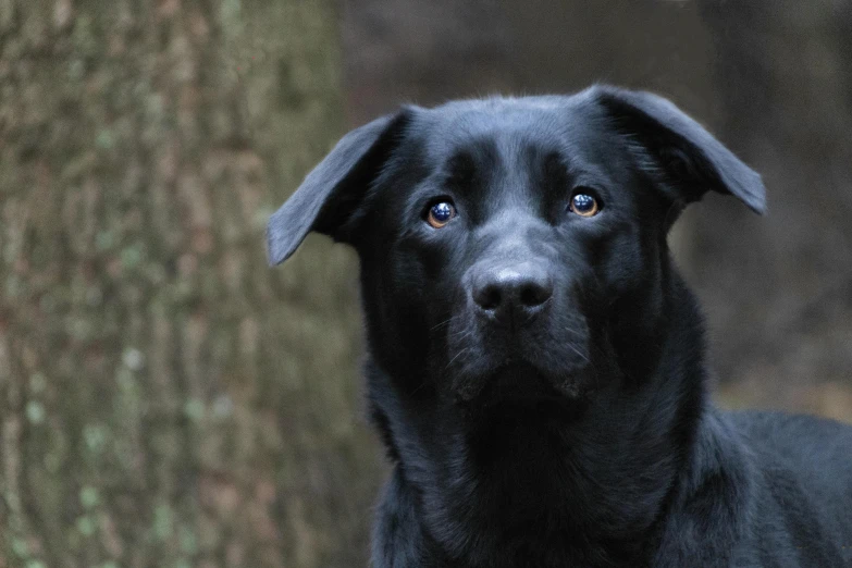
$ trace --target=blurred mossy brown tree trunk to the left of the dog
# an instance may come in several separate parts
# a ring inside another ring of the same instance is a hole
[[[0,567],[366,564],[330,1],[0,0]]]

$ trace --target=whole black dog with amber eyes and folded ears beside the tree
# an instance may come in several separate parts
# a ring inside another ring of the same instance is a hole
[[[602,86],[404,108],[307,176],[269,255],[360,256],[374,566],[852,566],[852,428],[708,400],[666,244],[708,189],[765,208],[670,102]]]

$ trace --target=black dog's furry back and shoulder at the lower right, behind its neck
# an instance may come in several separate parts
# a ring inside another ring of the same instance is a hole
[[[850,457],[852,427],[839,422],[706,412],[655,566],[844,566]]]

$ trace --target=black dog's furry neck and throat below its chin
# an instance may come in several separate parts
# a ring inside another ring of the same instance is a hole
[[[402,502],[411,507],[409,522],[419,524],[421,547],[454,566],[493,565],[495,551],[506,566],[532,558],[543,566],[546,558],[608,565],[650,550],[705,404],[701,318],[689,292],[676,286],[668,297],[694,318],[670,320],[664,310],[655,346],[612,337],[615,358],[651,351],[654,363],[613,366],[616,373],[620,367],[647,373],[609,378],[612,388],[577,408],[511,408],[471,430],[462,412],[432,416],[395,388],[371,388],[383,393],[371,402],[396,461],[392,491],[406,493]],[[371,382],[393,382],[375,365],[368,369]]]

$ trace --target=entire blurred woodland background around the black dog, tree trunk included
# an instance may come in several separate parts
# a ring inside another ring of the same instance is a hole
[[[765,176],[671,236],[720,404],[852,420],[850,0],[0,0],[0,567],[365,566],[357,262],[266,220],[399,102],[592,82]]]

